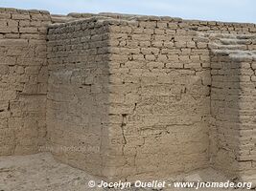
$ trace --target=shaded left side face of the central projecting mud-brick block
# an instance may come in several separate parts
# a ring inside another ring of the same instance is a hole
[[[107,28],[95,20],[49,29],[47,149],[104,177],[108,124]]]

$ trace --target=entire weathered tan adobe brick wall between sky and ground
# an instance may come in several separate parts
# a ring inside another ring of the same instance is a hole
[[[18,21],[16,41],[15,32],[0,32],[17,45],[0,44],[3,60],[10,59],[0,75],[1,155],[45,146],[56,159],[106,180],[165,178],[209,166],[254,179],[255,24],[10,9],[0,16],[9,11],[32,26]],[[57,24],[45,26],[51,23]],[[40,39],[35,46],[32,36]],[[15,52],[19,46],[29,58]],[[11,73],[20,65],[24,72]],[[27,81],[20,81],[23,74]],[[19,117],[12,99],[22,104]],[[7,133],[13,120],[20,134]]]

